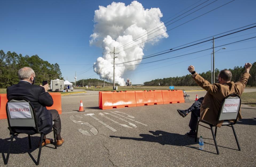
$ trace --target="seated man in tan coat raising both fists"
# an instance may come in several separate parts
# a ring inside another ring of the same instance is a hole
[[[190,131],[186,133],[187,136],[195,137],[196,124],[198,117],[211,123],[212,125],[220,127],[223,121],[217,122],[220,105],[226,96],[230,94],[242,95],[245,89],[248,78],[250,77],[249,71],[251,68],[250,63],[245,64],[245,72],[242,74],[241,79],[234,83],[231,82],[232,74],[229,70],[221,70],[216,79],[218,83],[210,84],[207,80],[203,79],[199,74],[195,72],[194,66],[189,66],[188,71],[192,74],[195,82],[207,91],[204,97],[201,97],[187,110],[177,110],[178,113],[185,117],[191,112],[190,118]],[[242,118],[241,110],[239,111],[238,118]]]

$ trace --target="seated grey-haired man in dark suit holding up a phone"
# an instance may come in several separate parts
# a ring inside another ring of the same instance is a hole
[[[64,139],[61,138],[61,120],[60,115],[57,110],[47,110],[46,106],[53,105],[52,96],[47,92],[49,89],[49,84],[44,86],[34,85],[35,82],[35,72],[30,67],[23,67],[18,71],[19,83],[12,85],[7,88],[7,99],[12,97],[25,97],[31,102],[36,112],[38,130],[45,134],[44,142],[42,146],[50,144],[53,140],[47,139],[46,134],[52,131],[52,126],[56,130],[57,146],[61,146]],[[53,122],[54,121],[54,125]],[[30,129],[19,129],[17,127],[17,132],[24,132]]]

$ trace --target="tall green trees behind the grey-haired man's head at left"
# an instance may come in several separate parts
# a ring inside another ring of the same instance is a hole
[[[40,85],[42,81],[48,81],[52,79],[63,79],[60,66],[50,64],[48,61],[44,61],[38,55],[29,57],[28,55],[22,56],[15,52],[5,53],[0,50],[0,88],[7,88],[13,84],[19,82],[18,70],[22,67],[30,67],[36,73],[35,84]]]

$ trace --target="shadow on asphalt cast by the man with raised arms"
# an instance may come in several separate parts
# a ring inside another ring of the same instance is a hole
[[[121,136],[109,136],[112,138],[120,138],[120,139],[129,139],[129,140],[137,140],[137,141],[145,141],[145,142],[155,142],[162,145],[177,145],[177,146],[187,146],[191,144],[196,144],[194,141],[195,138],[190,138],[185,135],[180,135],[177,133],[169,133],[161,130],[157,131],[149,131],[150,134],[140,134],[142,138],[130,138],[130,137],[121,137]]]

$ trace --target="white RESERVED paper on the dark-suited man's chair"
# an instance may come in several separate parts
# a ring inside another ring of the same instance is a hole
[[[28,102],[8,103],[11,118],[32,118]]]

